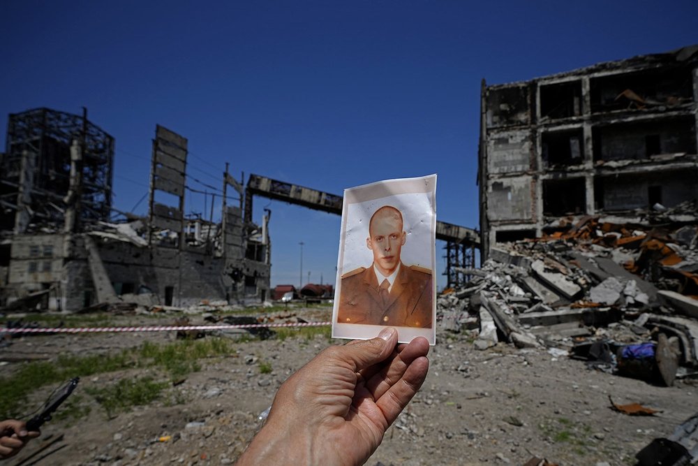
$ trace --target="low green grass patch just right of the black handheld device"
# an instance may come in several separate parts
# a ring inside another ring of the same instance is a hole
[[[141,377],[140,379],[120,379],[115,384],[103,388],[89,387],[85,391],[94,397],[107,413],[107,418],[111,419],[118,412],[157,400],[169,385],[166,381],[154,381],[151,377]]]

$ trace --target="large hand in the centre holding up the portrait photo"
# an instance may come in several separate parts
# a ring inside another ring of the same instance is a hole
[[[359,465],[419,390],[429,342],[397,332],[329,347],[286,380],[237,465]]]

